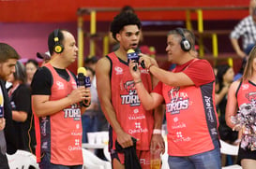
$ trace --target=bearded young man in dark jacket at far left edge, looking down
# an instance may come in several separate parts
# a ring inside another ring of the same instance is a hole
[[[15,64],[20,59],[15,49],[8,44],[0,43],[0,168],[8,169],[7,154],[13,154],[18,148],[16,133],[13,127],[11,106],[5,81],[15,72]]]

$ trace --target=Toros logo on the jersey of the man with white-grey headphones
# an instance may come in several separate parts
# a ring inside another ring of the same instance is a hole
[[[168,92],[171,103],[166,104],[166,110],[171,114],[178,114],[180,113],[180,110],[188,108],[188,94],[187,92],[180,92],[179,90],[180,87],[174,87],[171,91]]]

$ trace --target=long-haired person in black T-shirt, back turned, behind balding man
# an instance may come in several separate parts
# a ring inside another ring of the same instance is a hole
[[[8,79],[12,83],[8,95],[16,130],[15,135],[19,143],[18,148],[35,153],[36,135],[33,127],[30,88],[26,84],[26,70],[23,63],[19,61],[15,65],[15,70],[15,73],[11,74]]]

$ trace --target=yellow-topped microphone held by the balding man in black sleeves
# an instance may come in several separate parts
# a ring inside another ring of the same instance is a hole
[[[86,73],[86,69],[84,67],[79,67],[77,69],[77,86],[84,86],[85,88],[90,88],[91,87],[91,81],[90,81],[90,77],[86,77],[87,73]],[[83,104],[83,102],[80,102],[80,106],[85,106],[88,107],[90,106],[87,105],[88,100],[84,100],[85,104]]]

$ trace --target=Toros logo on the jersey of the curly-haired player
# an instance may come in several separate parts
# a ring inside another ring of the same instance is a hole
[[[124,86],[128,94],[121,95],[122,105],[140,106],[141,101],[135,90],[134,81],[127,81]]]

